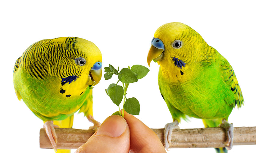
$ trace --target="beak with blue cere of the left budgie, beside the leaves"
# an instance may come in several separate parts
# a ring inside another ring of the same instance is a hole
[[[94,65],[92,66],[92,68],[89,72],[90,78],[89,78],[89,81],[87,82],[88,85],[95,86],[96,84],[99,83],[99,81],[101,80],[101,75],[102,75],[101,67],[102,67],[101,62],[94,63]]]

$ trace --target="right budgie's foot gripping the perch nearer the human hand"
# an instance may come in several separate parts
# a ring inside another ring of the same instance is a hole
[[[168,148],[170,146],[169,144],[171,143],[171,140],[172,140],[173,129],[180,128],[178,125],[179,125],[179,122],[174,121],[172,123],[167,123],[164,126],[164,148],[166,148],[167,150],[168,150]]]

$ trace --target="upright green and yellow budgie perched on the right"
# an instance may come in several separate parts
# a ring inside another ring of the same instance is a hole
[[[165,148],[181,118],[201,118],[205,127],[224,127],[227,152],[232,148],[233,124],[228,117],[244,99],[229,62],[209,46],[195,30],[183,23],[167,23],[159,27],[151,41],[148,66],[155,60],[160,65],[158,85],[172,115],[166,124]]]

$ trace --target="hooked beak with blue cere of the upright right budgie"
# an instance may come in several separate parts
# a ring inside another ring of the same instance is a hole
[[[163,51],[164,51],[164,43],[158,39],[158,38],[153,38],[151,41],[151,47],[148,51],[148,66],[150,65],[151,61],[157,60],[161,61],[163,58]]]

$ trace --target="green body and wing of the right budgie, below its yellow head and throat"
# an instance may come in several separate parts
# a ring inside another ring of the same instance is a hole
[[[220,58],[216,62],[194,70],[195,77],[189,81],[172,81],[160,67],[159,88],[173,119],[180,121],[185,115],[228,118],[235,105],[241,107],[243,97],[235,73],[224,57],[217,56]]]

